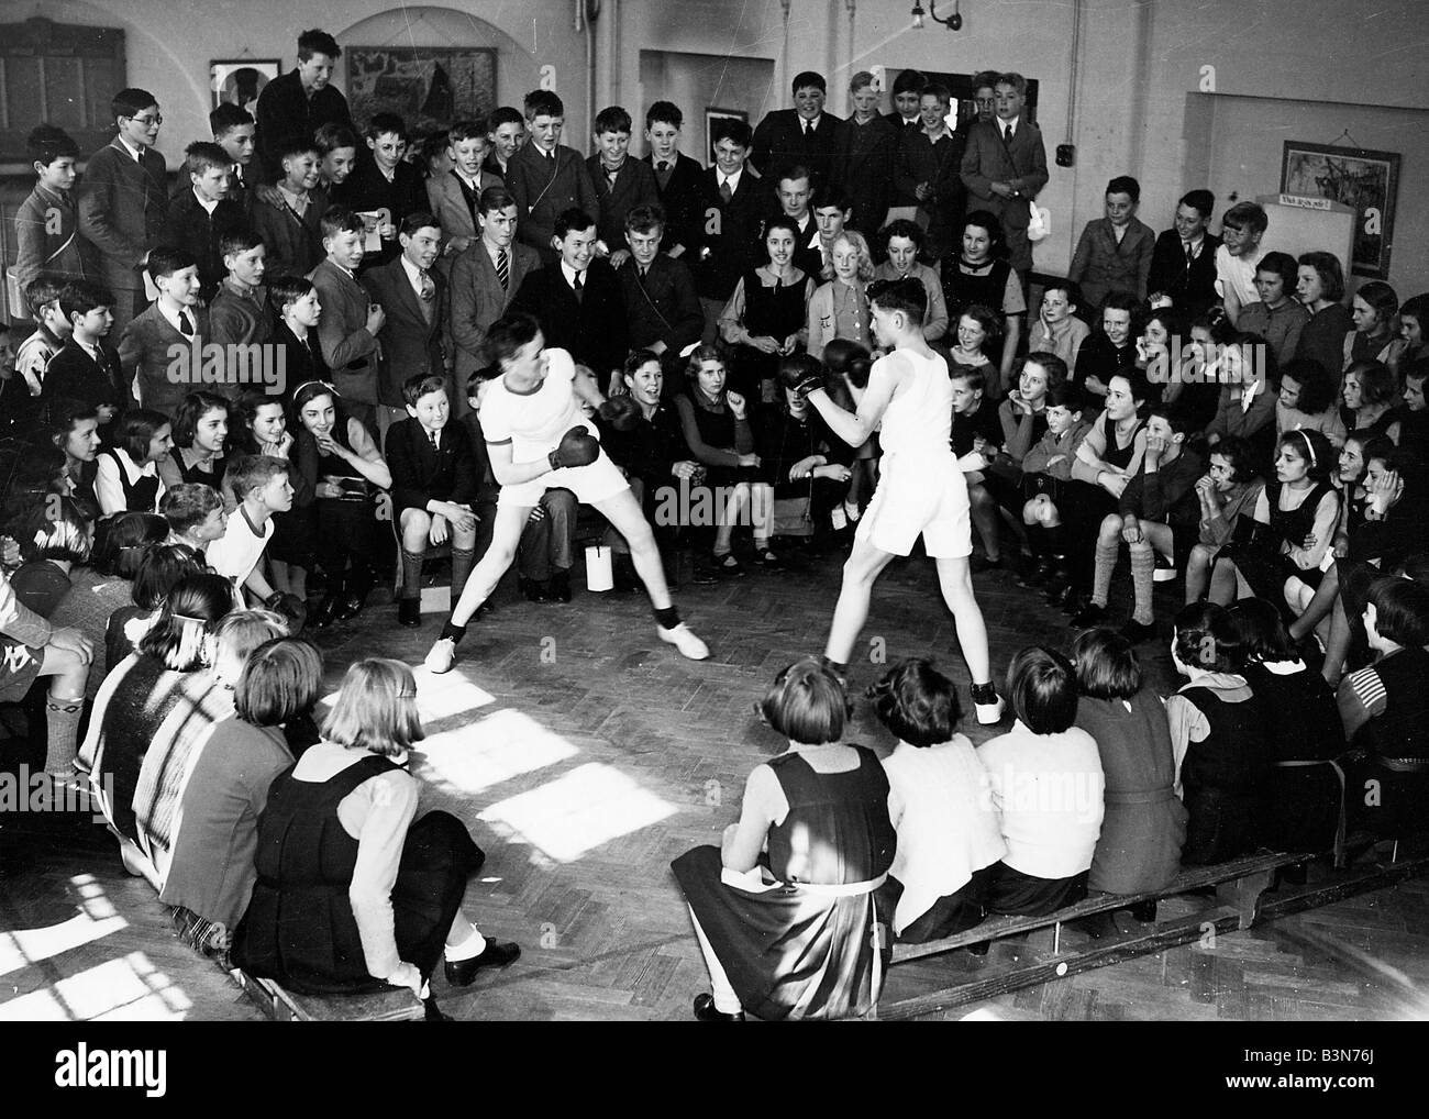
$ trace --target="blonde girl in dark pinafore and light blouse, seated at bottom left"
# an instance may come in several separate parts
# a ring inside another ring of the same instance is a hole
[[[504,968],[516,945],[487,940],[462,910],[484,855],[446,812],[417,819],[406,770],[426,732],[417,685],[399,660],[347,669],[322,740],[274,779],[257,825],[257,880],[233,962],[304,993],[467,986]],[[434,1016],[434,1005],[427,1005]]]

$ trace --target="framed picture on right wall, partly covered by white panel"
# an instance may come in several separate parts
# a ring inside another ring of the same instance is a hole
[[[1332,144],[1285,141],[1280,193],[1302,199],[1330,199],[1355,210],[1350,270],[1375,280],[1389,277],[1395,242],[1395,196],[1399,193],[1399,153],[1366,151]]]

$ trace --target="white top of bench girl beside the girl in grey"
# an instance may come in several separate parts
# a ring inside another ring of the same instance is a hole
[[[1106,810],[1096,739],[1079,727],[1033,735],[1019,719],[979,746],[977,757],[1002,812],[1007,866],[1046,879],[1090,869]]]

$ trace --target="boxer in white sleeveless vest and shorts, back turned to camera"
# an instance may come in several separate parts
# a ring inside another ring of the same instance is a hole
[[[1002,719],[1002,700],[992,685],[987,627],[973,597],[969,567],[973,536],[967,483],[949,446],[953,384],[947,363],[923,339],[927,290],[910,277],[875,284],[869,297],[873,333],[887,354],[873,363],[856,414],[830,399],[822,372],[795,370],[795,377],[786,379],[849,446],[862,446],[875,430],[882,432],[882,476],[843,565],[843,586],[823,659],[839,676],[846,676],[853,645],[869,616],[875,580],[895,556],[907,556],[922,536],[925,550],[937,563],[943,600],[957,623],[977,722],[996,723]]]

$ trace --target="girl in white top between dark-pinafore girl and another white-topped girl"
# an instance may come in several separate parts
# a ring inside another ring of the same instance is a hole
[[[899,739],[883,759],[897,853],[879,900],[899,940],[939,940],[983,919],[993,866],[1007,853],[1002,820],[977,752],[957,733],[957,689],[932,662],[895,666],[869,699]]]

